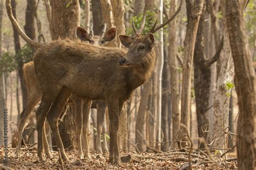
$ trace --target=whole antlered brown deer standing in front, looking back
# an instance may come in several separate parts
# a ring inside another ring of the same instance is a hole
[[[92,100],[106,100],[110,118],[109,162],[116,165],[122,163],[117,140],[118,116],[134,89],[149,80],[153,72],[156,62],[156,39],[153,33],[178,15],[182,3],[181,0],[171,18],[157,27],[156,22],[149,33],[142,34],[145,5],[139,30],[132,22],[135,36],[119,35],[128,51],[83,44],[77,40],[57,40],[38,49],[34,65],[42,87],[42,99],[36,112],[39,160],[45,161],[42,152],[43,126],[47,117],[60,154],[64,161],[68,161],[58,131],[58,119],[70,95],[76,94],[83,98],[83,110],[90,109]],[[28,37],[23,37],[30,41]]]

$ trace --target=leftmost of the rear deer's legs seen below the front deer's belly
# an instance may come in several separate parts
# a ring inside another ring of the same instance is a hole
[[[78,158],[84,159],[82,149],[82,130],[83,130],[83,99],[73,95],[73,102],[75,103],[75,114],[76,114],[76,128],[77,128],[77,141],[78,141]]]

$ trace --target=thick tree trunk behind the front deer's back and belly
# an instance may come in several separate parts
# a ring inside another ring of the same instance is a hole
[[[79,1],[71,1],[66,7],[67,3],[66,1],[52,1],[52,40],[76,39],[76,27],[80,25]],[[63,122],[59,122],[59,131],[64,147],[71,149],[77,147],[74,105],[70,105]]]

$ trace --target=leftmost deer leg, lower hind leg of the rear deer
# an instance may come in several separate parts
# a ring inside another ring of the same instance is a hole
[[[36,104],[41,100],[41,97],[36,97],[37,95],[30,95],[28,102],[26,103],[26,106],[24,110],[19,115],[19,124],[18,124],[18,143],[16,147],[16,155],[15,158],[20,158],[21,154],[21,140],[22,140],[22,133],[25,128],[26,119],[28,119],[29,115],[31,114],[31,111],[33,108],[35,108]]]

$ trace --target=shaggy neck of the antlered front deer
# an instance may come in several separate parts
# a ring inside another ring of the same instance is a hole
[[[150,54],[145,56],[131,68],[130,85],[132,89],[142,86],[143,83],[149,80],[154,69],[155,61],[156,53],[154,50],[152,50]]]

